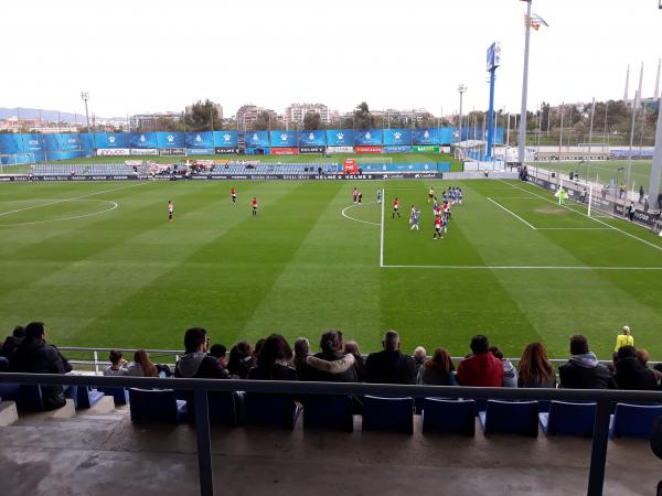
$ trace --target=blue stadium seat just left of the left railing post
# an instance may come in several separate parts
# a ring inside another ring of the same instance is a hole
[[[129,389],[131,422],[179,423],[186,418],[186,402],[172,389]]]

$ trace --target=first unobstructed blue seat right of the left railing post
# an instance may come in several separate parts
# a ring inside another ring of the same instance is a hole
[[[246,423],[295,429],[301,407],[291,395],[247,392],[244,397]]]

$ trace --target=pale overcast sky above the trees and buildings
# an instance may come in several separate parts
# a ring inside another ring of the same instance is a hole
[[[487,108],[485,50],[502,42],[495,107],[519,111],[526,3],[519,0],[7,0],[0,107],[114,117],[210,98],[225,116],[253,103],[341,111]],[[658,0],[534,0],[528,108],[622,98],[662,55]]]

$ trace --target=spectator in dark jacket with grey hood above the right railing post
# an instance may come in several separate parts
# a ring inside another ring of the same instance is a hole
[[[616,387],[609,369],[588,351],[586,337],[570,337],[570,359],[558,367],[562,388],[613,389]]]

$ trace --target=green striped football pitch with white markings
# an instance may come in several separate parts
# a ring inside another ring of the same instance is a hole
[[[451,185],[463,205],[433,240],[428,188]],[[371,352],[395,328],[409,352],[462,356],[483,333],[566,357],[584,333],[608,359],[628,324],[662,359],[662,238],[515,181],[3,184],[0,274],[0,328],[42,320],[63,346],[179,349],[201,325],[226,346],[277,332],[316,349],[337,328]]]

